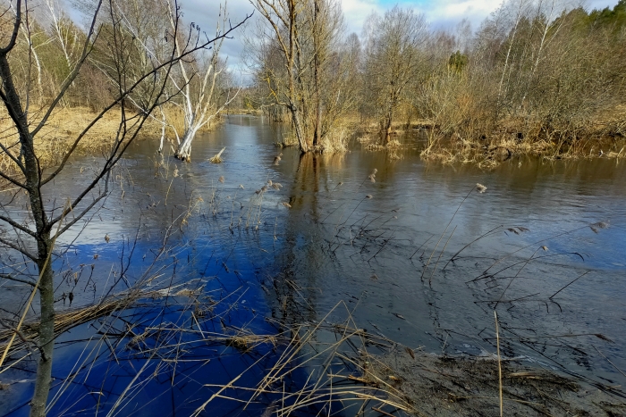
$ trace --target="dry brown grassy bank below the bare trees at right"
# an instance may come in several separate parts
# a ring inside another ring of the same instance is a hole
[[[395,154],[402,154],[406,147],[403,138],[417,136],[422,139],[422,158],[444,164],[469,163],[480,168],[494,168],[515,156],[546,160],[626,157],[626,106],[619,106],[612,115],[595,122],[560,129],[514,119],[501,121],[485,131],[451,131],[428,120],[397,122],[386,146],[382,145],[376,123],[354,131],[370,151],[393,148]]]

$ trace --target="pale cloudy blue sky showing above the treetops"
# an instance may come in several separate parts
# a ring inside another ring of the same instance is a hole
[[[494,12],[502,0],[339,0],[348,33],[361,34],[364,21],[372,12],[384,14],[385,10],[399,4],[402,8],[412,8],[423,13],[434,29],[453,29],[462,19],[467,19],[471,28],[476,30],[490,13]],[[617,0],[568,0],[576,5],[581,2],[588,10],[613,7]],[[220,9],[219,0],[179,0],[187,22],[195,22],[207,33],[212,32],[216,25],[216,17]],[[228,0],[227,10],[231,21],[241,21],[247,14],[254,12],[250,0]],[[258,13],[252,19],[258,18]],[[237,70],[243,67],[241,53],[243,42],[241,31],[234,34],[233,39],[224,42],[222,53],[228,56],[229,67]],[[243,75],[246,78],[246,75]]]

